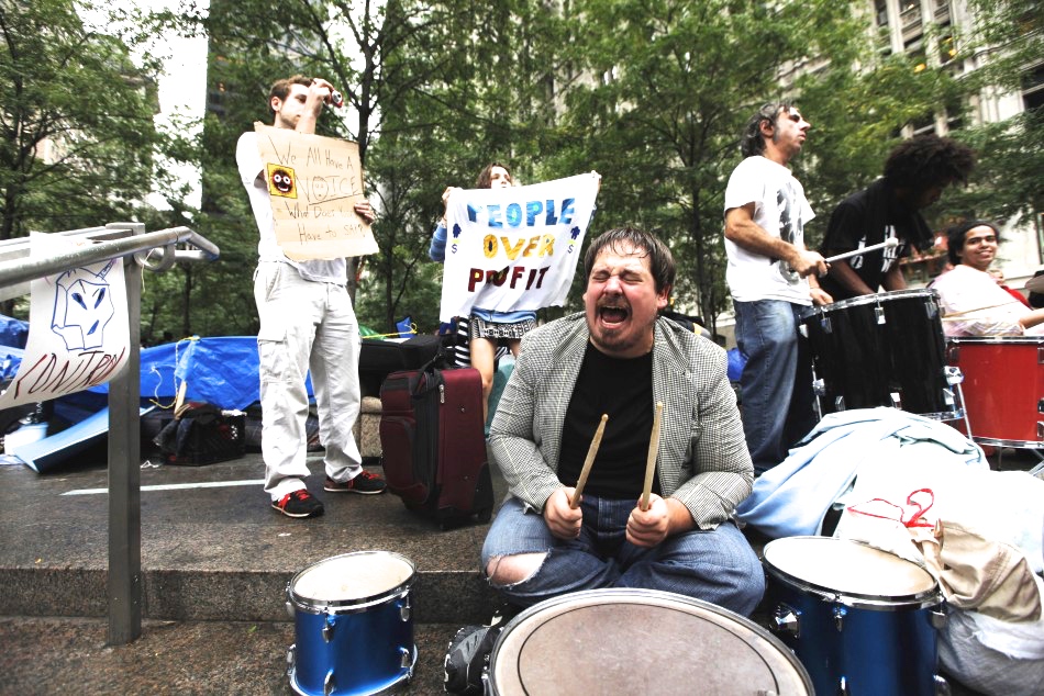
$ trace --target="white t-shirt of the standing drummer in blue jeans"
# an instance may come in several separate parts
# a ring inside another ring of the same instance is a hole
[[[801,182],[790,170],[767,157],[747,157],[733,170],[725,188],[725,212],[754,203],[754,223],[768,234],[804,248],[804,224],[815,214]],[[812,304],[809,283],[786,261],[744,249],[725,239],[729,266],[725,281],[733,300],[782,300]]]

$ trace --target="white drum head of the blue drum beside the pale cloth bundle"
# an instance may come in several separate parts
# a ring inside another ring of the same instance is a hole
[[[863,597],[907,597],[935,590],[935,579],[904,559],[833,537],[788,537],[765,545],[765,564],[815,587]]]

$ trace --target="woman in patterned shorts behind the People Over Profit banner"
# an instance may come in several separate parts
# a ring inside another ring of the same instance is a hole
[[[513,184],[511,172],[499,162],[486,165],[475,182],[476,189],[507,189]],[[448,187],[442,194],[442,202],[446,204],[454,187]],[[440,263],[446,260],[446,216],[435,227],[431,247],[427,250],[433,261]],[[463,322],[458,322],[462,326]],[[463,328],[463,327],[462,327]],[[495,312],[481,307],[471,307],[471,316],[467,321],[467,345],[471,367],[482,375],[482,420],[488,419],[489,394],[493,389],[493,366],[503,349],[507,347],[511,355],[519,355],[522,336],[530,329],[536,328],[536,312]],[[458,330],[459,333],[459,330]],[[456,356],[462,362],[462,356]]]

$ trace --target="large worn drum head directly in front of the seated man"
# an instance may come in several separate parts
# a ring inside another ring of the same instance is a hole
[[[566,595],[520,614],[490,661],[493,694],[811,694],[776,638],[711,604],[648,590]]]

